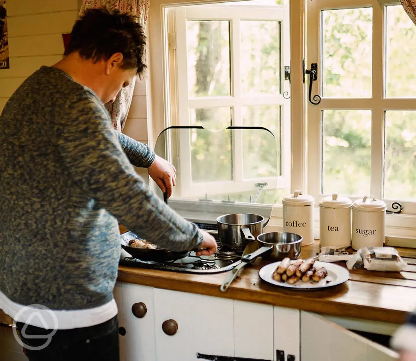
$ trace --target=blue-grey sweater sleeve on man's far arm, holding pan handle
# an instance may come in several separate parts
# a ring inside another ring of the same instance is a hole
[[[116,132],[119,138],[121,149],[131,164],[135,167],[149,168],[153,163],[156,154],[147,144],[138,142],[137,140],[128,137],[126,134]]]

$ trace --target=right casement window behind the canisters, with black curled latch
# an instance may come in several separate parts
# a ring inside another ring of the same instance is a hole
[[[415,52],[416,27],[400,4],[307,2],[306,66],[317,64],[312,97],[322,98],[307,101],[315,199],[371,194],[389,209],[399,202],[403,215],[416,214]],[[399,233],[414,227],[412,218],[395,214],[387,224]]]

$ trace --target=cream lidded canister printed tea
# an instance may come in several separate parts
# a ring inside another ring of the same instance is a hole
[[[324,197],[319,202],[319,234],[321,247],[351,246],[351,199]]]

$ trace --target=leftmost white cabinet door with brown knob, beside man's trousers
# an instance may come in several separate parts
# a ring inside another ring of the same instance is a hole
[[[126,329],[126,361],[156,361],[154,289],[123,283],[123,323]],[[142,318],[134,316],[132,306],[143,303],[147,311]]]

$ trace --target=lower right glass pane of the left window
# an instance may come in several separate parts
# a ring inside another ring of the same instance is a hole
[[[243,177],[273,177],[281,174],[280,167],[280,106],[260,105],[242,107],[243,126],[264,127],[277,139],[276,145],[270,144],[272,137],[259,137],[260,132],[243,133]],[[267,139],[266,139],[267,138]]]

